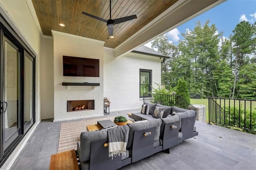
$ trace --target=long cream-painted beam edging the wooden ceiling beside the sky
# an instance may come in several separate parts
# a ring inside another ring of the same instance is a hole
[[[114,49],[115,57],[123,56],[214,8],[226,0],[179,0],[140,31]],[[174,18],[175,17],[175,18]]]

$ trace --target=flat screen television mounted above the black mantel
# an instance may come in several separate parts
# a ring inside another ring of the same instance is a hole
[[[100,60],[63,56],[63,76],[99,77]]]

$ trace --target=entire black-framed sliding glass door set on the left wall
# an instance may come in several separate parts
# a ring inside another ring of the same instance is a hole
[[[0,21],[1,167],[35,123],[35,57],[8,24]]]

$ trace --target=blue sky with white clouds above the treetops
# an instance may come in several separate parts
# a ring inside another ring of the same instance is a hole
[[[203,25],[206,20],[210,20],[210,25],[215,24],[218,33],[223,31],[224,37],[227,38],[240,21],[246,20],[250,23],[256,21],[256,0],[227,0],[169,31],[167,33],[168,40],[177,44],[178,40],[182,40],[181,33],[185,33],[186,29],[193,30],[197,21]],[[146,46],[151,48],[151,43],[147,43]]]

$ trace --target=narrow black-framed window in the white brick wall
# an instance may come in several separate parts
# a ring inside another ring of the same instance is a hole
[[[144,93],[151,92],[152,70],[140,69],[140,98]]]

